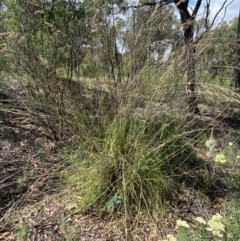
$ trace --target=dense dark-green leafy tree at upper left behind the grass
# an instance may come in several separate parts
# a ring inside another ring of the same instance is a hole
[[[12,66],[31,76],[46,95],[54,92],[59,75],[65,76],[63,89],[84,58],[90,32],[89,12],[78,1],[8,1],[10,17],[8,49]],[[18,38],[21,36],[21,38]],[[62,73],[61,73],[62,72]]]

